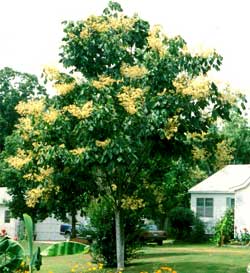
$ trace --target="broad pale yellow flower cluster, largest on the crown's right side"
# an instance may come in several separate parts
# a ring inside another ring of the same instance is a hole
[[[192,96],[194,99],[202,99],[210,93],[210,82],[205,76],[190,78],[186,73],[181,73],[173,82],[176,91]]]

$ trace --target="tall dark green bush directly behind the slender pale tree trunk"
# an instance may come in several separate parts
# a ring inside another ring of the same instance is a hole
[[[134,257],[139,247],[138,217],[131,211],[124,213],[125,261]],[[115,218],[111,204],[103,199],[92,202],[88,209],[90,224],[94,230],[91,254],[96,262],[116,266]]]

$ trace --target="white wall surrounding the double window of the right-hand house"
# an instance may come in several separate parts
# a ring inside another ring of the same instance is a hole
[[[191,194],[191,209],[196,214],[196,199],[197,198],[213,198],[213,217],[201,217],[204,222],[206,233],[213,234],[216,222],[225,214],[227,210],[227,197],[234,198],[234,194],[225,193],[192,193]]]

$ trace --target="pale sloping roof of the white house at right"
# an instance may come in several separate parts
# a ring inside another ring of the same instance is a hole
[[[192,187],[190,193],[234,193],[250,183],[249,165],[228,165]]]

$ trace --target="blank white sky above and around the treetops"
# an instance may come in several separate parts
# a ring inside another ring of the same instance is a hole
[[[39,76],[56,65],[64,20],[100,15],[108,0],[0,1],[0,69]],[[250,97],[249,0],[120,0],[124,13],[160,24],[191,47],[215,48],[223,56],[216,77]]]

